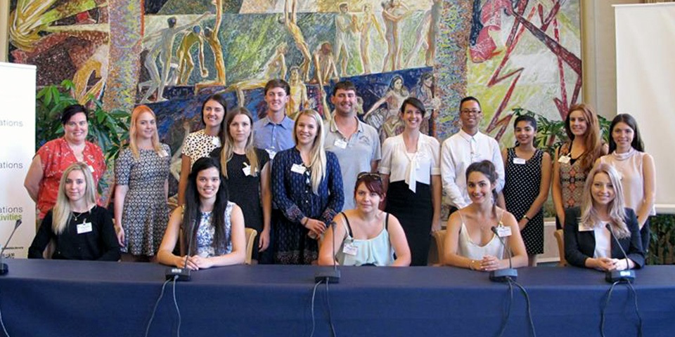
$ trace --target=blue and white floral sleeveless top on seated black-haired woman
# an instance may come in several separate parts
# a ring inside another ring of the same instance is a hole
[[[195,249],[198,256],[210,258],[211,256],[221,256],[232,252],[232,223],[230,220],[232,206],[234,206],[234,203],[232,201],[227,201],[224,225],[224,242],[226,242],[226,244],[221,244],[218,247],[213,246],[215,227],[212,225],[212,212],[202,213],[199,220],[199,228],[197,230],[197,247]]]

